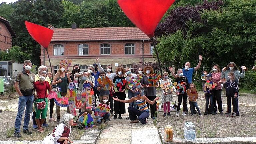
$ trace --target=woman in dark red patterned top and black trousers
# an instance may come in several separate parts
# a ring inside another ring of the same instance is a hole
[[[204,71],[204,75],[207,75],[207,71]],[[212,90],[213,92],[213,103],[214,103],[214,108],[215,108],[215,113],[217,114],[217,104],[216,100],[218,103],[218,109],[220,114],[223,114],[222,110],[222,101],[221,101],[221,72],[220,72],[220,66],[219,65],[213,65],[213,73],[212,73],[212,81],[217,84],[215,86],[215,89]],[[206,77],[205,77],[206,78]]]

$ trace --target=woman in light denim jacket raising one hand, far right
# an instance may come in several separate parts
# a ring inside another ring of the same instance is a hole
[[[229,80],[228,73],[233,72],[235,75],[235,78],[237,82],[239,83],[240,78],[244,78],[245,76],[245,66],[242,66],[242,72],[239,71],[238,67],[234,62],[228,63],[227,67],[224,67],[221,72],[221,78],[225,78],[225,82]],[[236,116],[239,116],[239,111],[238,111],[238,97],[235,98],[235,105],[236,105]]]

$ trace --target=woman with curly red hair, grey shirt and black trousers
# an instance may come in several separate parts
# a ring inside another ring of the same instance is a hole
[[[147,96],[147,98],[151,101],[153,101],[155,98],[156,98],[156,87],[159,86],[159,82],[157,82],[157,85],[155,87],[150,87],[149,86],[149,83],[148,83],[148,77],[151,75],[151,73],[153,73],[154,70],[151,66],[145,66],[144,67],[144,73],[146,75],[144,75],[142,77],[142,80],[141,80],[141,84],[143,85],[144,87],[144,95]],[[151,85],[153,85],[153,82],[151,82]],[[153,104],[149,104],[147,103],[147,107],[149,108],[150,106],[150,115],[151,115],[151,118],[154,118],[155,117],[155,112],[156,112],[156,103],[153,103]],[[156,115],[157,116],[157,115]]]

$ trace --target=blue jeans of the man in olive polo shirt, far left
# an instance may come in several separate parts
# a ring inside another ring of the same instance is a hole
[[[26,111],[24,116],[23,130],[28,129],[30,113],[33,111],[33,101],[34,101],[34,95],[19,97],[18,113],[15,120],[15,133],[20,132],[21,119],[24,114],[25,107],[26,107]]]

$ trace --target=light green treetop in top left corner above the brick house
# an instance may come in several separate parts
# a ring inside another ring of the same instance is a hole
[[[0,4],[0,16],[9,20],[10,16],[13,14],[13,3],[7,4],[6,2],[2,2]]]

